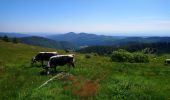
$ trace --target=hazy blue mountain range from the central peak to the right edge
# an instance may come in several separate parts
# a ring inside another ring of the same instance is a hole
[[[105,36],[89,33],[66,33],[47,36],[53,40],[63,40],[75,44],[77,47],[86,46],[123,46],[129,43],[156,43],[156,42],[170,42],[170,37],[118,37],[118,36]]]

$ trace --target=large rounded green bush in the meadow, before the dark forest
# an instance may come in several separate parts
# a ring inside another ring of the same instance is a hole
[[[143,53],[130,53],[125,50],[113,51],[111,60],[115,62],[145,63],[149,62],[149,57]]]

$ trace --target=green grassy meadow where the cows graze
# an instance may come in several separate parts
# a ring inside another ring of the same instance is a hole
[[[150,63],[117,63],[109,57],[76,53],[72,76],[38,87],[54,75],[41,75],[42,68],[30,66],[39,51],[62,50],[0,41],[0,100],[168,100],[169,54],[150,56]],[[68,70],[67,66],[57,70]]]

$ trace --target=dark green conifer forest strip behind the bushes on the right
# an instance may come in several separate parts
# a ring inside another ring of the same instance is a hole
[[[97,53],[99,55],[110,55],[113,51],[124,49],[129,52],[143,51],[145,53],[163,54],[170,53],[170,42],[155,43],[127,43],[124,46],[89,46],[77,52],[80,53]]]

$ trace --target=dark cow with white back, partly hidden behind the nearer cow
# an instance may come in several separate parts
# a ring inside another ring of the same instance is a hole
[[[41,62],[43,66],[43,61],[49,61],[50,57],[56,56],[57,52],[39,52],[35,57],[32,58],[31,64]]]

